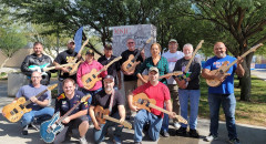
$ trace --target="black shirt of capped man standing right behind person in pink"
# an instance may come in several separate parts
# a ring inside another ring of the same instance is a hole
[[[98,59],[98,62],[100,62],[102,65],[106,65],[109,64],[111,61],[113,61],[116,56],[112,55],[109,60],[105,58],[105,55],[101,56]],[[108,74],[112,75],[115,79],[115,84],[117,84],[116,82],[116,75],[117,72],[120,72],[120,63],[114,62],[112,65],[109,66],[108,69]]]

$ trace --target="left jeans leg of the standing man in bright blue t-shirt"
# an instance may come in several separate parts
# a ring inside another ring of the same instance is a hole
[[[212,94],[208,93],[208,105],[209,105],[209,115],[211,115],[211,135],[218,135],[218,120],[219,120],[219,105],[221,105],[222,94]]]

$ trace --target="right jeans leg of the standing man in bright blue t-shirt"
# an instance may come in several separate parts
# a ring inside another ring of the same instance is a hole
[[[229,140],[237,138],[236,125],[235,125],[235,106],[236,100],[234,93],[223,95],[222,106],[225,113],[226,127],[228,131]]]

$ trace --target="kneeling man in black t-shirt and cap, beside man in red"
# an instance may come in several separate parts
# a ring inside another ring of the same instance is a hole
[[[108,132],[109,126],[115,126],[114,131],[114,143],[121,144],[121,134],[123,125],[121,125],[125,120],[125,109],[124,109],[124,96],[117,91],[114,90],[114,78],[108,75],[104,81],[104,90],[100,91],[93,99],[90,106],[90,115],[94,124],[94,141],[95,143],[101,143]],[[95,111],[95,106],[102,106],[104,110],[109,110],[110,116],[119,120],[121,123],[114,123],[112,121],[106,121],[105,124],[100,124],[96,121],[95,116],[99,116]]]

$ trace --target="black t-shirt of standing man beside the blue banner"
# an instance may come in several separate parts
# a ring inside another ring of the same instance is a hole
[[[59,64],[66,64],[68,59],[75,58],[76,54],[78,54],[76,52],[70,53],[68,50],[65,50],[65,51],[59,53],[58,56],[54,59],[54,61]],[[73,80],[76,80],[76,74],[70,76],[69,73],[61,74],[61,71],[59,71],[59,80],[64,80],[66,78],[71,78]]]

